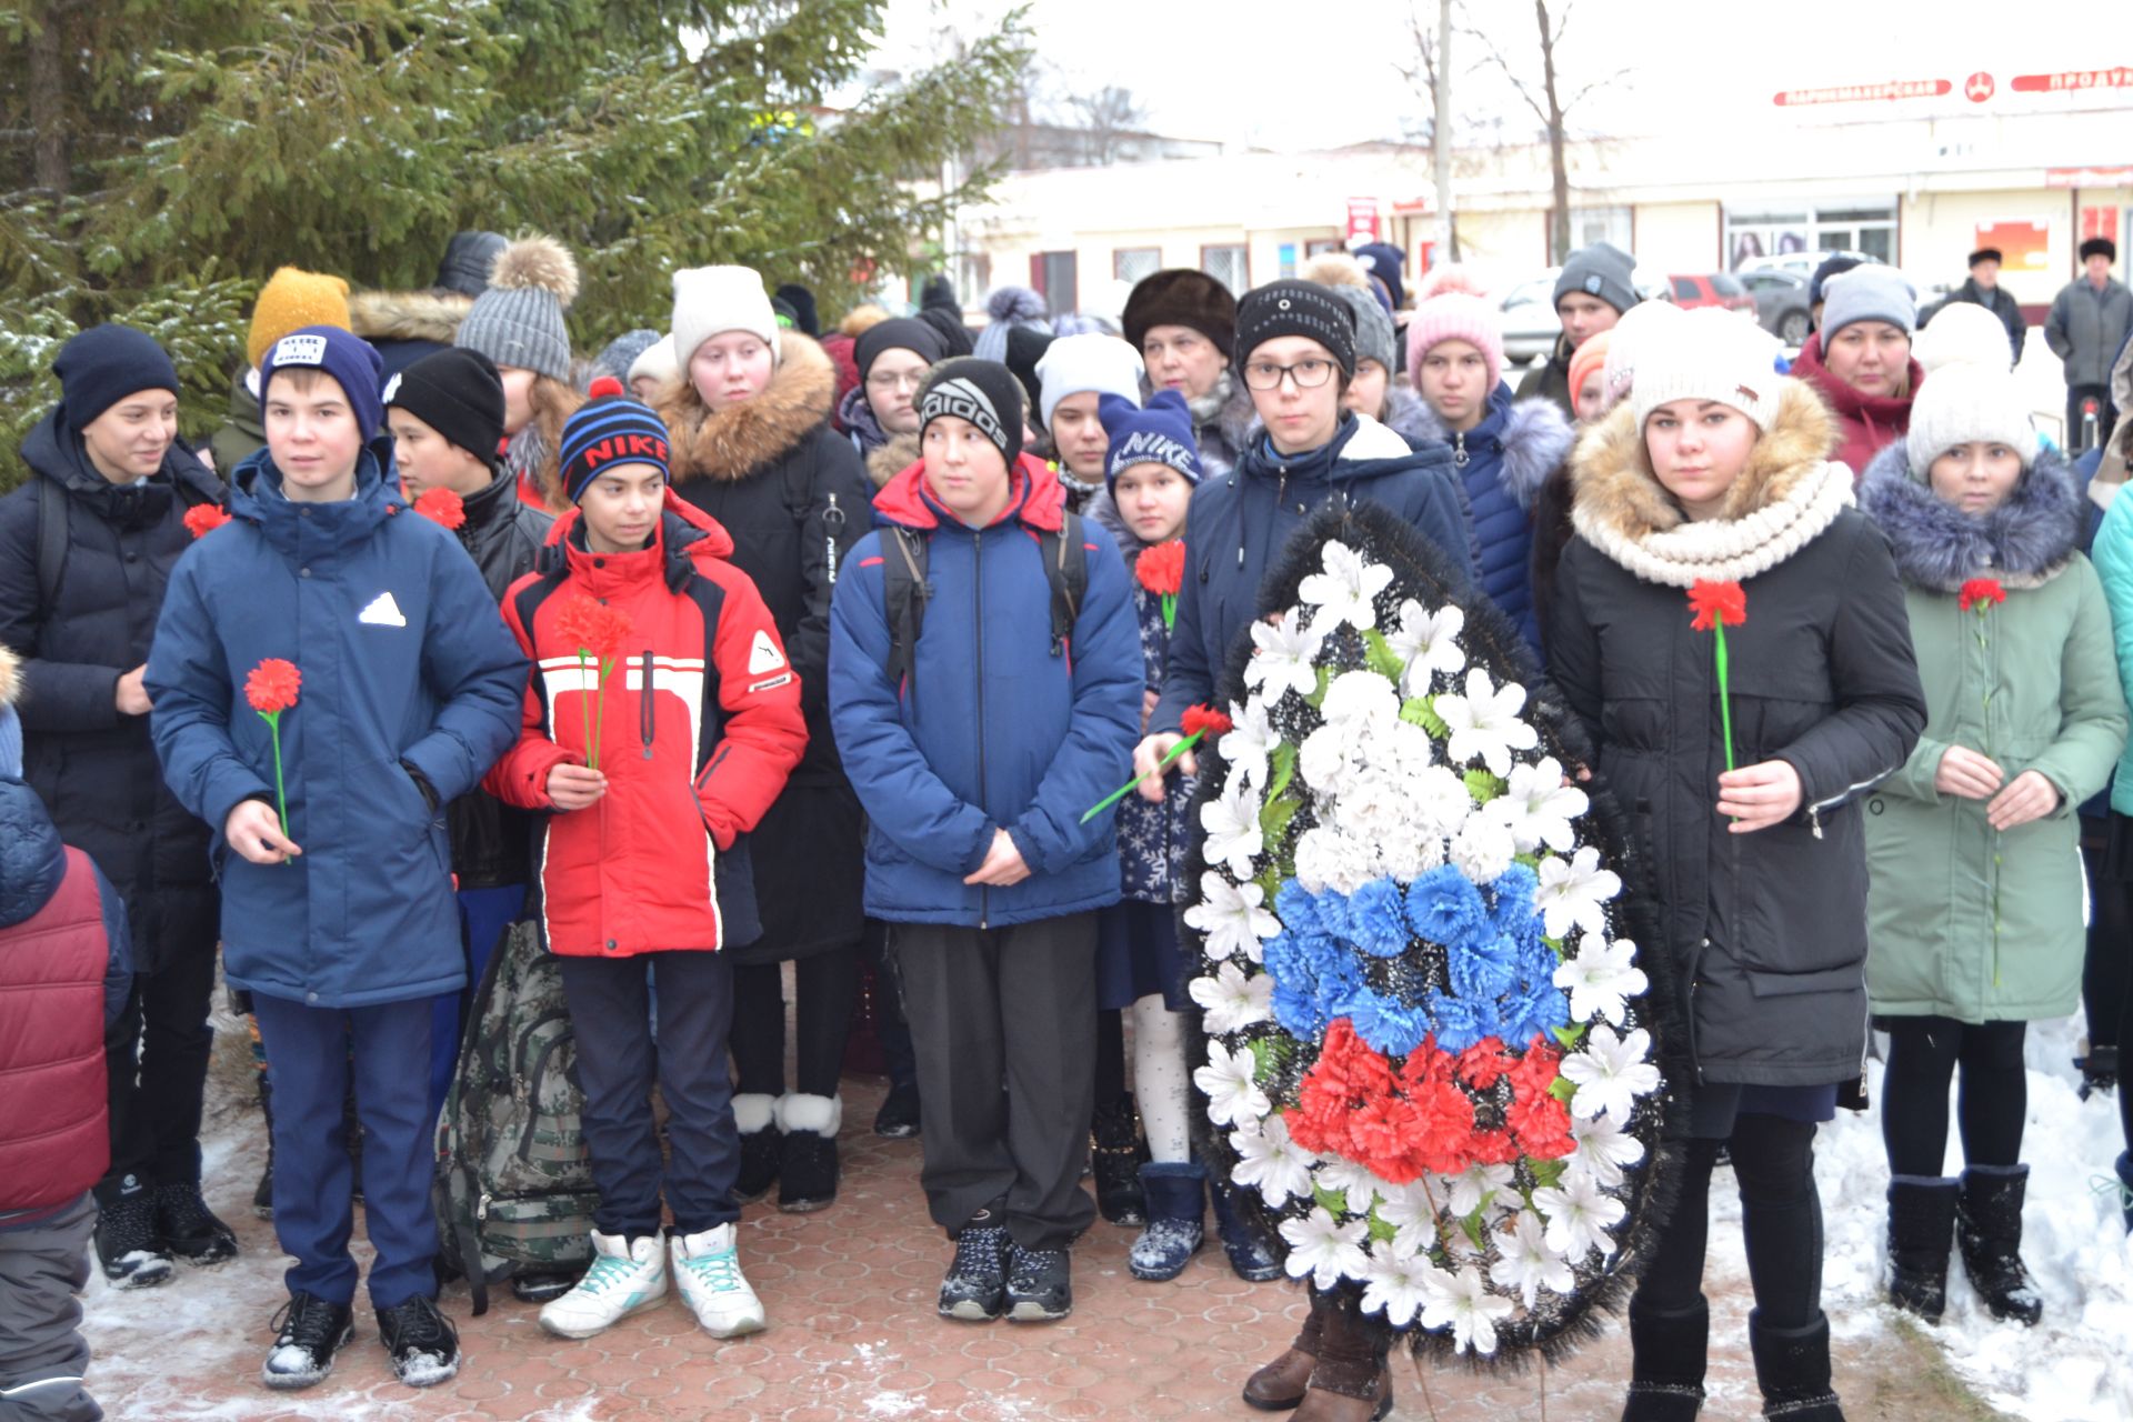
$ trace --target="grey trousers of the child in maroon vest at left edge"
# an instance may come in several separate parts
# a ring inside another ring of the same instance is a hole
[[[81,1300],[90,1281],[96,1196],[51,1219],[0,1230],[0,1422],[100,1422],[81,1373]]]

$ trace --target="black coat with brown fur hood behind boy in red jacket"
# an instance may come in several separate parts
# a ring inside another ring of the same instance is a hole
[[[830,426],[836,367],[787,330],[761,394],[708,411],[683,382],[659,401],[674,439],[674,492],[734,535],[734,565],[755,580],[800,674],[806,757],[749,836],[764,934],[734,962],[770,964],[860,940],[864,819],[830,733],[830,588],[872,529],[875,488],[857,450]]]

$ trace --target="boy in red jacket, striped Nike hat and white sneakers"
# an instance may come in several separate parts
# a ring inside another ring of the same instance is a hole
[[[736,1249],[734,966],[719,949],[761,934],[747,831],[800,763],[806,718],[770,608],[732,563],[734,539],[674,497],[665,424],[621,390],[593,382],[595,399],[563,424],[576,510],[557,522],[544,571],[503,599],[540,674],[518,744],[486,782],[546,812],[540,912],[578,1038],[599,1185],[593,1266],[540,1322],[589,1339],[659,1303],[672,1245],[689,1311],[729,1339],[761,1328],[764,1307]],[[602,616],[608,631],[587,627]]]

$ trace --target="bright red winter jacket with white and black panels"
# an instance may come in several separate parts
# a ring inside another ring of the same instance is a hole
[[[542,569],[503,597],[533,680],[525,731],[488,772],[488,791],[555,810],[548,772],[584,761],[589,712],[599,712],[608,793],[550,814],[538,846],[555,953],[719,949],[761,932],[744,834],[806,750],[800,678],[755,584],[727,563],[734,539],[672,490],[665,510],[651,548],[623,554],[587,552],[578,514],[565,514]],[[559,631],[580,599],[629,618],[604,682]]]

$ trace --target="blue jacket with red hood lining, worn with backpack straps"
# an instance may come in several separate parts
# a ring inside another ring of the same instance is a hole
[[[1037,533],[1062,527],[1043,465],[1013,471],[1007,512],[962,524],[913,465],[875,497],[875,522],[928,535],[932,597],[909,684],[889,682],[881,531],[851,550],[830,601],[830,727],[866,808],[866,912],[896,923],[1003,927],[1118,902],[1113,810],[1081,812],[1133,776],[1141,633],[1118,548],[1088,527],[1088,593],[1052,655],[1052,582]],[[1007,829],[1030,876],[964,885]]]

